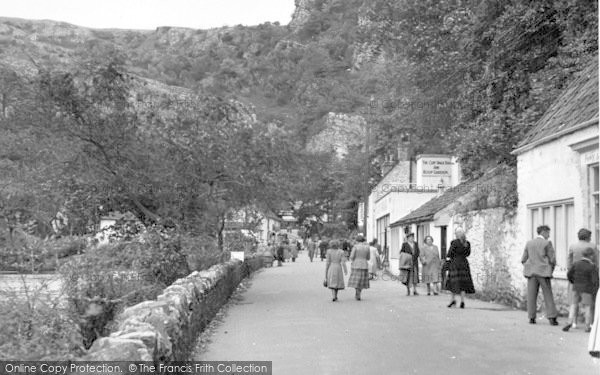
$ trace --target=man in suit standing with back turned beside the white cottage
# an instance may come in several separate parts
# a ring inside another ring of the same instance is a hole
[[[525,245],[525,251],[521,258],[523,263],[523,274],[527,278],[527,314],[529,323],[535,324],[537,310],[537,295],[539,288],[542,287],[544,294],[544,303],[546,305],[546,315],[550,325],[556,326],[558,322],[556,317],[558,311],[554,304],[554,295],[552,294],[552,273],[556,266],[556,253],[552,242],[548,241],[550,237],[550,227],[540,225],[537,228],[538,236],[529,240]]]

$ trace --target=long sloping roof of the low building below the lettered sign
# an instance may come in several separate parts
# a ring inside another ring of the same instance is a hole
[[[497,176],[500,171],[501,169],[498,167],[492,168],[480,178],[465,181],[455,187],[447,189],[441,195],[438,195],[437,197],[427,201],[422,206],[411,211],[408,215],[393,222],[390,224],[390,227],[422,223],[433,220],[433,217],[436,213],[440,212],[451,204],[456,203],[458,199],[469,194],[478,186],[483,186],[485,182]]]

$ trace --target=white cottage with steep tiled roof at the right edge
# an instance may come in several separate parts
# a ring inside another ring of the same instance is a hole
[[[588,228],[600,239],[598,60],[565,89],[513,151],[517,155],[519,242],[546,224],[557,251],[555,278],[566,276],[569,244]]]

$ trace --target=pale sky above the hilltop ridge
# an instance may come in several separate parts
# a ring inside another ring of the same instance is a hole
[[[0,17],[92,28],[149,29],[289,23],[294,0],[0,0]]]

